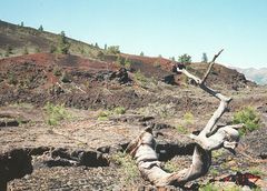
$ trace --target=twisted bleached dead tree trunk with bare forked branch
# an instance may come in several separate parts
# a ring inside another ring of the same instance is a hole
[[[234,152],[237,147],[239,141],[237,129],[241,128],[243,124],[225,127],[216,125],[217,121],[226,112],[231,98],[228,98],[206,86],[206,80],[215,64],[215,60],[221,52],[222,50],[219,51],[209,62],[208,69],[202,79],[189,73],[184,67],[176,67],[178,72],[192,79],[200,89],[220,101],[218,109],[214,112],[212,117],[200,133],[197,135],[190,134],[190,138],[196,142],[196,147],[192,153],[192,162],[189,168],[174,173],[168,173],[162,170],[155,151],[156,140],[154,139],[151,128],[147,128],[137,139],[129,143],[126,151],[136,160],[141,175],[152,184],[157,187],[182,187],[188,181],[198,179],[208,172],[211,165],[212,150],[225,148]]]

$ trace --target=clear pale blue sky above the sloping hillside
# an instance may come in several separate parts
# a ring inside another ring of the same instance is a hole
[[[267,67],[267,0],[0,0],[0,19],[127,53]]]

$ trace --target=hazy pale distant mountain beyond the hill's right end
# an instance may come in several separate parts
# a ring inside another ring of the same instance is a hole
[[[248,80],[255,81],[258,84],[267,84],[267,68],[248,68],[248,69],[240,69],[234,68],[237,71],[244,73]]]

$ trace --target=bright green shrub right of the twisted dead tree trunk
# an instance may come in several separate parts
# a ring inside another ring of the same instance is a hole
[[[254,108],[246,107],[241,111],[234,114],[234,124],[244,123],[244,128],[239,130],[239,133],[247,134],[259,128],[259,117]]]

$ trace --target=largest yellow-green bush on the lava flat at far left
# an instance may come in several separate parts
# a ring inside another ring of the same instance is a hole
[[[47,114],[46,122],[49,125],[57,125],[60,121],[65,119],[70,119],[71,117],[63,104],[53,104],[47,102],[43,109]]]

